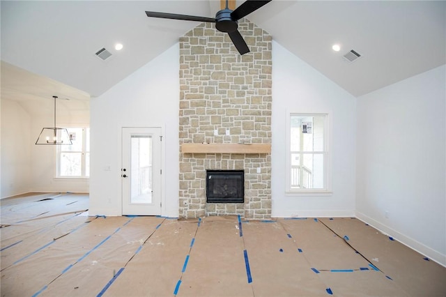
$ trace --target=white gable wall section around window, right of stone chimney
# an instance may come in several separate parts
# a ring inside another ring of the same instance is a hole
[[[286,118],[288,112],[331,115],[332,195],[286,196]],[[272,216],[355,215],[355,97],[272,43]]]

